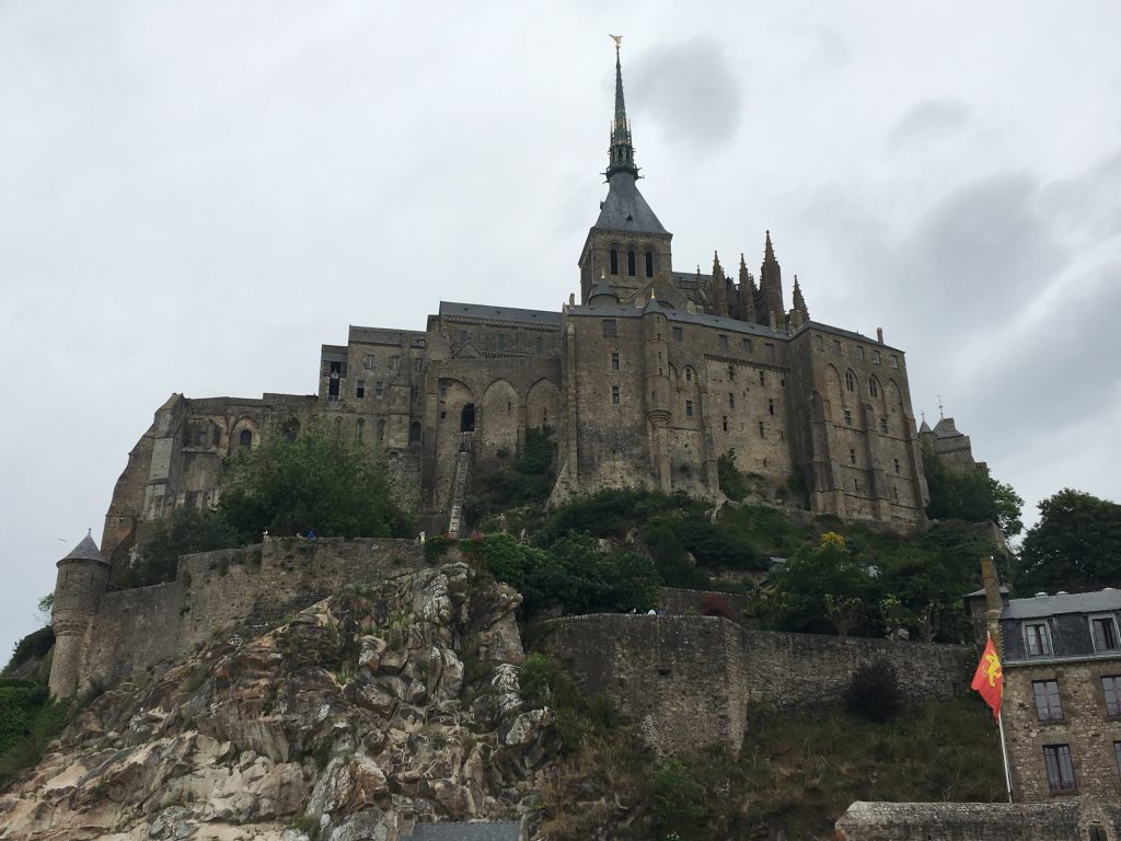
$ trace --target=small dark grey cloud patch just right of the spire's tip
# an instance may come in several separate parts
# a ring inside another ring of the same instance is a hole
[[[670,140],[700,148],[724,145],[735,133],[743,95],[721,45],[707,37],[660,45],[623,68],[623,85],[642,91],[629,102]]]

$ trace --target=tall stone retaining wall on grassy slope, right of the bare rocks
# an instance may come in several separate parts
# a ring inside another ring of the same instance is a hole
[[[585,692],[605,692],[664,754],[738,749],[751,703],[836,704],[861,665],[887,660],[915,702],[965,685],[961,646],[757,631],[717,617],[600,614],[549,622],[547,646]]]

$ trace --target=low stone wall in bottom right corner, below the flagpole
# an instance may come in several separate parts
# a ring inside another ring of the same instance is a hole
[[[836,823],[839,841],[1058,841],[1090,839],[1091,829],[1113,841],[1121,807],[1064,803],[853,803]]]

